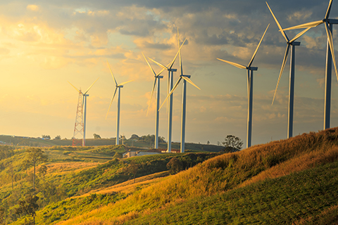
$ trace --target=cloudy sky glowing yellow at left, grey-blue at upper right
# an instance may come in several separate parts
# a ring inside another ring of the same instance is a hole
[[[328,0],[268,1],[283,28],[322,20]],[[330,18],[338,18],[338,2]],[[0,134],[70,139],[74,134],[77,91],[87,88],[87,138],[116,136],[115,83],[121,89],[120,134],[154,134],[156,99],[150,102],[154,75],[142,53],[167,65],[177,53],[177,28],[187,86],[186,142],[218,144],[227,135],[246,146],[246,70],[216,58],[247,65],[267,25],[252,66],[252,144],[287,138],[289,60],[271,105],[286,48],[285,40],[261,0],[75,0],[0,1]],[[293,38],[301,30],[287,31]],[[334,48],[337,46],[334,26]],[[294,135],[323,129],[324,25],[298,41]],[[337,51],[336,51],[337,55]],[[156,72],[161,68],[151,62]],[[178,60],[173,68],[179,68]],[[168,72],[161,79],[166,97]],[[174,73],[174,80],[179,72]],[[331,127],[338,126],[338,82],[332,71]],[[182,84],[174,92],[173,141],[180,141]],[[146,111],[150,102],[149,115]],[[168,114],[160,111],[160,136],[168,140]]]

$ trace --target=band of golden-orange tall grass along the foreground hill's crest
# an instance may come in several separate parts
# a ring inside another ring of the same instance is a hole
[[[83,217],[118,221],[126,214],[137,217],[194,198],[227,193],[258,181],[334,162],[338,158],[337,146],[335,128],[220,155]],[[79,218],[63,224],[79,224],[82,217]]]

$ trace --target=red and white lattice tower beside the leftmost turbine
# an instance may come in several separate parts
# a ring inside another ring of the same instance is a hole
[[[74,127],[74,136],[73,136],[73,146],[80,145],[84,146],[83,139],[83,105],[82,105],[82,93],[79,92],[79,99],[77,101],[77,110],[75,118],[75,127]]]

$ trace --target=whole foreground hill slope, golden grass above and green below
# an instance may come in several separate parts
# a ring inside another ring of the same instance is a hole
[[[207,220],[213,221],[211,224],[225,224],[227,217],[231,223],[237,223],[237,221],[269,223],[255,217],[255,214],[261,214],[263,211],[267,211],[267,214],[275,214],[273,207],[276,204],[286,209],[278,211],[281,212],[278,218],[286,219],[287,223],[311,216],[316,217],[321,211],[338,205],[338,184],[337,175],[335,175],[337,174],[337,146],[338,129],[334,128],[253,146],[238,153],[220,155],[136,191],[123,200],[99,207],[92,212],[59,224],[81,224],[82,222],[82,224],[123,224],[127,221],[134,224],[137,222],[135,219],[140,219],[140,224],[145,221],[145,224],[158,224],[158,222],[167,224],[166,221],[158,219],[154,219],[153,223],[151,220],[142,218],[156,218],[154,215],[158,212],[170,209],[174,210],[163,211],[160,215],[165,217],[165,212],[175,214],[175,217],[179,219],[168,221],[168,223],[184,224],[180,218],[187,217],[186,214],[194,218],[192,221],[203,221],[204,214],[208,213],[202,210],[198,214],[196,213],[198,210],[194,210],[194,205],[200,202],[201,208],[215,205],[215,209],[220,207],[220,211],[233,207],[240,209],[245,204],[247,205],[247,210],[243,212],[234,210],[233,213],[222,215],[218,213],[218,210],[211,211],[210,214],[213,214],[213,217]],[[318,178],[316,174],[321,175],[318,175]],[[306,177],[306,179],[301,179],[301,177]],[[320,179],[318,185],[311,185],[311,182],[315,183],[316,179]],[[294,188],[298,185],[304,188]],[[331,186],[334,188],[330,188]],[[282,198],[282,193],[280,195],[274,193],[274,190],[279,189],[278,187],[293,197],[301,197],[293,200]],[[320,201],[316,199],[319,193],[323,193],[319,197]],[[240,196],[245,196],[245,198]],[[333,197],[330,198],[330,196]],[[276,199],[273,200],[272,197]],[[309,202],[316,203],[318,207],[314,205],[299,207]],[[258,207],[258,211],[255,211],[251,210],[255,208],[252,205],[256,207],[267,205],[267,207]],[[292,214],[290,210],[294,208],[298,211]],[[182,209],[186,209],[186,214]],[[239,214],[235,217],[234,213],[237,212]],[[188,221],[186,222],[189,224]],[[283,223],[283,220],[277,223]]]

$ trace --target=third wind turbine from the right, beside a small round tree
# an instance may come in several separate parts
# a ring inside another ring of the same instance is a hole
[[[270,26],[270,23],[268,24],[268,27]],[[256,53],[258,51],[259,46],[261,45],[263,38],[265,36],[266,31],[268,30],[268,27],[266,27],[265,32],[261,38],[261,41],[259,41],[258,46],[256,48],[256,51],[253,53],[253,56],[247,66],[241,65],[238,63],[232,63],[227,60],[223,60],[220,58],[217,58],[218,60],[221,60],[225,63],[229,63],[230,65],[234,65],[237,68],[240,69],[246,69],[248,71],[248,122],[247,122],[247,129],[246,129],[246,148],[249,148],[251,146],[251,127],[252,127],[252,94],[253,94],[253,71],[258,70],[256,67],[251,67],[251,64],[253,63],[253,59],[256,56]]]

